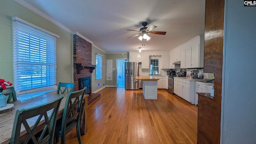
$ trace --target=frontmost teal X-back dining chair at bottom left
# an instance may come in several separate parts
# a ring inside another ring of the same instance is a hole
[[[20,128],[22,124],[27,132],[26,138],[24,142],[22,142],[23,144],[53,144],[56,117],[62,98],[63,96],[59,96],[55,100],[39,106],[18,109],[14,119],[10,144],[20,143]],[[35,123],[32,127],[30,127],[28,124],[28,122],[31,123],[32,121],[30,118],[35,118]],[[44,119],[43,121],[45,123],[44,129],[42,130],[39,138],[36,138],[35,130],[39,126],[39,122],[42,120],[42,118]]]

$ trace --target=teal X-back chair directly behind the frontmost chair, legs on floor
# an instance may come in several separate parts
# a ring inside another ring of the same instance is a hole
[[[66,134],[76,127],[76,135],[79,144],[82,144],[80,134],[80,112],[82,108],[82,100],[86,87],[76,92],[69,92],[62,119],[57,120],[55,129],[55,142],[61,138],[61,143],[66,144]]]

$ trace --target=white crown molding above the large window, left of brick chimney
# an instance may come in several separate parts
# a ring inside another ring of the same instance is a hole
[[[27,2],[25,2],[24,0],[14,0],[16,2],[18,2],[19,4],[21,4],[22,6],[28,8],[29,10],[32,10],[33,12],[35,12],[36,14],[42,16],[43,18],[45,18],[46,20],[49,20],[50,22],[56,24],[57,26],[59,26],[60,28],[62,28],[63,30],[66,30],[67,32],[69,32],[70,34],[72,34],[72,30],[70,30],[69,28],[67,28],[66,26],[63,26],[62,24],[60,24],[59,22],[57,22],[56,20],[54,20],[53,18],[51,18],[50,16],[44,14],[43,12],[41,12],[40,10],[38,10],[37,8],[35,8],[34,6],[28,4]]]

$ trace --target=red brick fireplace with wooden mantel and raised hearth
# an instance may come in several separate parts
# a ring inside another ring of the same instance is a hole
[[[92,71],[95,69],[95,65],[92,65],[92,44],[81,38],[80,36],[73,35],[73,61],[74,61],[74,90],[80,90],[79,88],[79,79],[90,77],[90,96],[88,97],[88,105],[91,104],[94,100],[100,97],[100,94],[94,94],[92,92]]]

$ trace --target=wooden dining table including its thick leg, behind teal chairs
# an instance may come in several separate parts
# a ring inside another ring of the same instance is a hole
[[[38,106],[40,104],[44,104],[47,102],[50,102],[58,96],[62,95],[63,99],[60,103],[60,107],[57,114],[57,119],[62,118],[67,94],[56,94],[56,92],[50,92],[46,94],[39,94],[36,96],[30,96],[27,98],[22,98],[20,100],[16,100],[14,102],[10,102],[8,104],[14,104],[12,108],[6,113],[0,114],[0,144],[9,144],[10,138],[12,135],[12,127],[15,119],[16,110],[20,108],[30,108],[33,106]],[[87,115],[87,103],[88,103],[88,94],[84,95],[83,102],[82,102],[82,110],[80,114],[80,132],[81,135],[86,134],[88,130],[88,115]],[[37,117],[28,119],[28,125],[33,126],[35,121],[37,120]],[[39,123],[36,132],[40,132],[44,127],[45,123],[44,120]],[[24,126],[21,127],[20,130],[20,139],[23,139],[26,136],[26,130]]]

